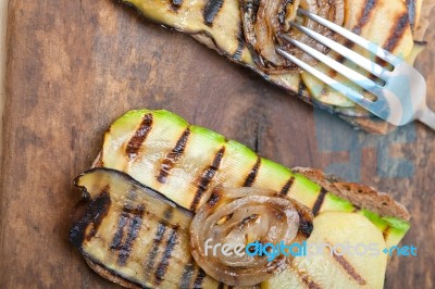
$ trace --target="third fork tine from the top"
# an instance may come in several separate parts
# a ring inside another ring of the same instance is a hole
[[[381,88],[376,83],[374,83],[372,79],[359,74],[358,72],[343,65],[341,63],[333,60],[332,58],[326,56],[325,54],[319,52],[318,50],[300,42],[295,39],[289,38],[288,36],[284,36],[284,38],[293,43],[294,46],[298,47],[306,53],[310,54],[311,56],[318,59],[322,63],[326,64],[330,66],[332,70],[335,70],[352,83],[357,84],[358,86],[364,88],[365,90],[373,91],[378,88]]]

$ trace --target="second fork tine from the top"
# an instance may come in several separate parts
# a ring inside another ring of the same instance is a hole
[[[358,54],[357,52],[348,49],[347,47],[316,33],[313,32],[307,27],[303,27],[297,23],[291,23],[291,26],[296,27],[300,32],[304,33],[306,35],[310,36],[314,40],[319,41],[320,43],[327,46],[338,54],[347,58],[348,60],[351,60],[353,63],[357,65],[361,66],[365,71],[370,72],[374,76],[380,77],[381,79],[384,79],[385,76],[388,76],[389,72],[382,67],[381,65],[376,64],[375,62],[364,58],[361,54]],[[287,38],[286,38],[287,39]],[[384,79],[385,80],[385,79]]]

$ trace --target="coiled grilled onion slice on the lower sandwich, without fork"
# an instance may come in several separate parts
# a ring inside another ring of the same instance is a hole
[[[269,262],[266,256],[227,255],[211,248],[256,241],[300,243],[312,231],[312,218],[309,209],[274,191],[217,187],[191,222],[191,254],[213,278],[228,286],[253,286],[286,268],[291,255],[281,254]]]

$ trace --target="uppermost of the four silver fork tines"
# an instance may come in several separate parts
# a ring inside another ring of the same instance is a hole
[[[396,63],[400,62],[400,59],[398,59],[397,56],[393,55],[391,53],[389,53],[388,51],[386,51],[385,49],[382,49],[381,47],[378,47],[375,43],[372,43],[368,40],[365,40],[364,38],[362,38],[359,35],[356,35],[353,33],[351,33],[350,30],[335,24],[332,23],[319,15],[315,15],[313,13],[308,12],[304,9],[298,9],[298,11],[306,15],[307,17],[310,17],[311,20],[322,24],[323,26],[336,32],[337,34],[346,37],[347,39],[351,40],[352,42],[359,45],[360,47],[362,47],[363,49],[370,51],[371,53],[375,54],[376,56],[385,60],[386,62],[388,62],[391,65],[395,65]]]

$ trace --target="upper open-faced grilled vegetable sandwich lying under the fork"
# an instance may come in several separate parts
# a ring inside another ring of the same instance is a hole
[[[135,7],[147,18],[191,35],[198,41],[250,67],[265,79],[309,103],[337,113],[356,127],[372,133],[387,133],[391,126],[357,105],[343,93],[332,89],[294,63],[276,53],[284,48],[304,62],[314,65],[334,79],[373,99],[361,87],[318,63],[293,45],[284,35],[327,53],[353,67],[348,60],[290,26],[301,23],[352,50],[368,55],[361,48],[346,42],[331,30],[297,13],[303,8],[325,17],[382,48],[413,63],[424,48],[424,30],[433,0],[122,0]],[[365,71],[361,74],[369,76]]]

